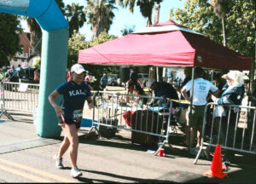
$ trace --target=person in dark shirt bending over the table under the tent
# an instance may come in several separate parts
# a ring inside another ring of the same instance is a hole
[[[171,83],[156,82],[154,79],[152,79],[150,83],[148,82],[148,87],[154,90],[154,96],[156,97],[164,97],[165,99],[170,98],[170,99],[178,100],[177,91],[172,87]],[[163,105],[162,103],[163,103],[162,100],[154,100],[151,105],[162,106]],[[179,106],[178,103],[173,101],[172,107],[176,108],[177,106]]]

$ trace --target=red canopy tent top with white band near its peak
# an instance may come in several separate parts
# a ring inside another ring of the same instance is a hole
[[[252,59],[168,20],[125,37],[79,50],[79,63],[250,70]]]

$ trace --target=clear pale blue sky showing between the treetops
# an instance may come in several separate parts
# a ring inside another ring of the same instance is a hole
[[[80,5],[85,6],[85,0],[63,0],[65,5],[71,3],[79,3]],[[169,12],[172,8],[182,8],[183,3],[185,0],[164,0],[163,3],[160,3],[160,22],[169,20]],[[122,36],[121,30],[126,28],[132,28],[134,26],[134,31],[143,29],[147,24],[147,19],[143,18],[143,15],[140,13],[140,10],[136,6],[134,9],[134,13],[129,13],[129,9],[122,9],[121,7],[117,6],[118,9],[114,10],[114,18],[113,24],[110,27],[108,34],[115,35],[118,37]],[[153,12],[154,16],[154,12]],[[153,19],[152,19],[153,20]],[[26,23],[23,21],[21,26],[26,29]],[[90,25],[84,23],[84,26],[79,29],[81,34],[84,34],[86,40],[91,40],[92,31],[90,30]]]

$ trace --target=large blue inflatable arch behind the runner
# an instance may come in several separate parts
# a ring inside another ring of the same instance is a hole
[[[55,138],[61,134],[48,95],[65,81],[68,23],[55,0],[0,0],[0,12],[33,17],[42,28],[37,134]],[[60,101],[60,99],[58,99]]]

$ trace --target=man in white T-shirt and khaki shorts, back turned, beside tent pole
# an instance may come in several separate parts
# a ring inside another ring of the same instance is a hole
[[[213,85],[210,81],[202,78],[203,74],[204,74],[204,71],[201,67],[195,68],[194,95],[193,95],[193,101],[192,101],[191,114],[189,113],[189,124],[191,126],[190,147],[193,146],[196,129],[199,131],[199,134],[197,135],[196,147],[199,147],[201,145],[201,129],[202,129],[203,118],[204,118],[204,110],[207,104],[207,95],[209,94],[209,91],[212,91],[212,95],[215,95],[215,96],[217,96],[219,92],[218,88],[215,85]],[[192,87],[192,80],[186,83],[182,89],[183,97],[187,101],[191,101],[186,93],[187,91],[190,91],[190,94],[192,94],[191,87]],[[190,112],[190,106],[189,106],[189,112]]]

